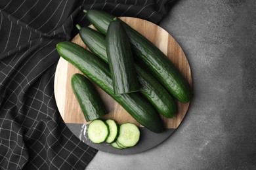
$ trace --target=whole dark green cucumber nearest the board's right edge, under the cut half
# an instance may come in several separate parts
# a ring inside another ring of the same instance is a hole
[[[101,10],[88,10],[86,16],[89,22],[105,35],[108,25],[113,18],[116,17]],[[192,98],[190,84],[188,84],[175,65],[173,65],[167,56],[152,42],[148,41],[148,39],[140,35],[140,33],[129,25],[124,22],[122,23],[127,31],[135,58],[146,65],[152,75],[154,75],[176,99],[182,103],[190,101]]]

